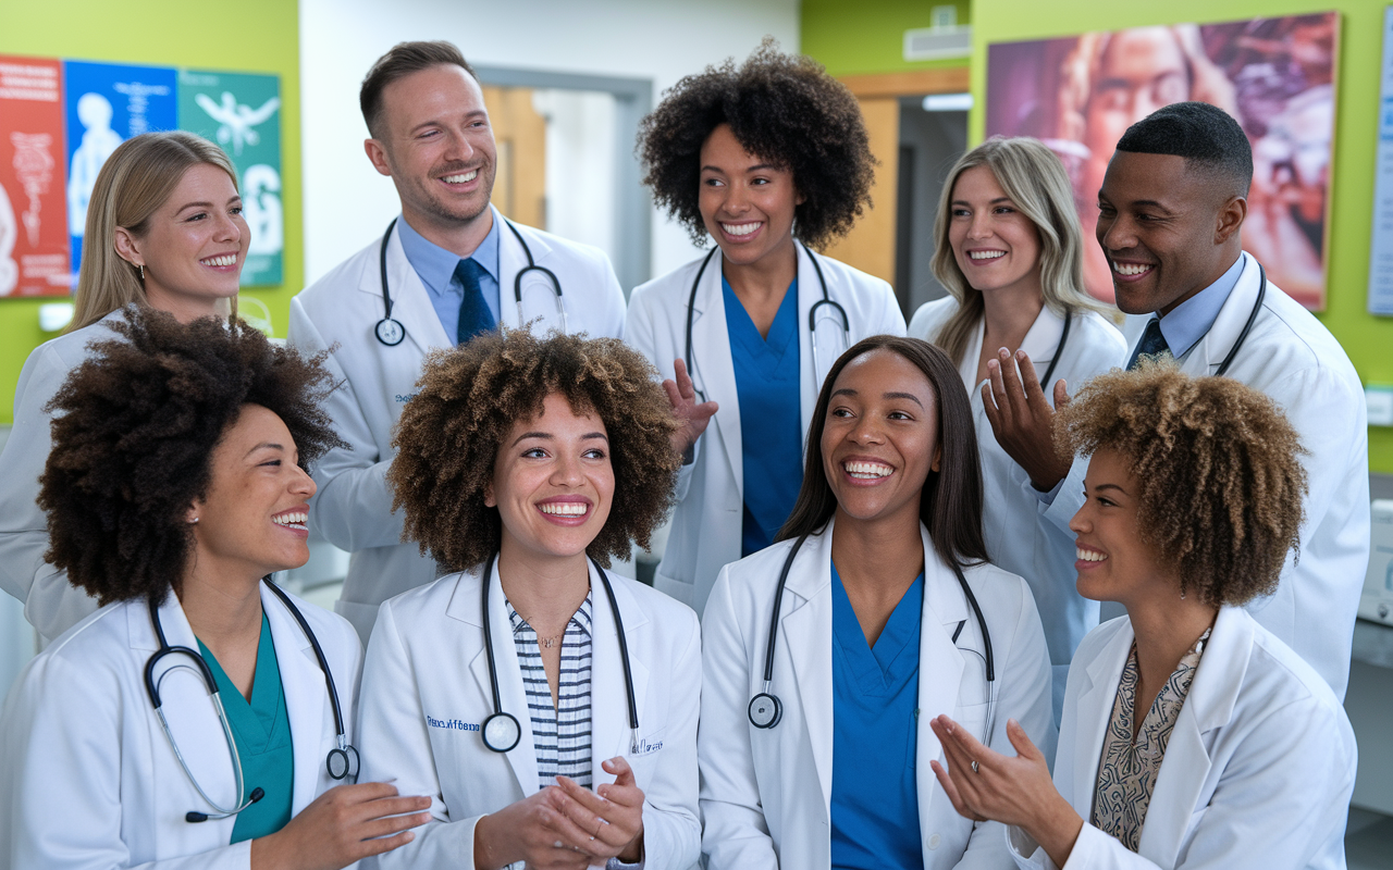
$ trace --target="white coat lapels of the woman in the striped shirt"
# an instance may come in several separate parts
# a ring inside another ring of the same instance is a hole
[[[479,574],[474,569],[457,575],[454,592],[446,607],[446,615],[468,625],[482,628],[481,619],[481,587]],[[591,759],[592,777],[595,785],[613,782],[613,777],[600,767],[617,754],[627,754],[630,749],[628,728],[628,699],[624,689],[624,665],[621,664],[618,649],[618,632],[614,626],[614,615],[610,612],[609,597],[605,594],[605,585],[600,582],[595,564],[589,564],[591,589],[593,590],[591,635]],[[620,615],[624,619],[624,636],[628,642],[630,668],[634,675],[634,702],[642,717],[644,703],[648,695],[648,667],[642,661],[639,644],[635,642],[637,632],[648,625],[648,614],[634,599],[634,593],[627,589],[617,576],[610,576],[614,589],[614,600],[618,603]],[[513,714],[522,729],[518,745],[507,753],[513,775],[517,777],[518,786],[524,795],[536,791],[536,752],[532,743],[532,717],[527,715],[527,689],[522,686],[522,668],[518,664],[517,646],[513,643],[513,626],[508,622],[507,599],[503,594],[503,582],[499,576],[497,561],[489,576],[489,629],[493,635],[493,657],[499,675],[499,700],[504,713]],[[469,661],[469,672],[485,697],[492,697],[492,683],[489,681],[489,658],[483,649],[482,638],[479,651]],[[492,710],[490,710],[492,714]],[[639,718],[642,724],[642,718]]]

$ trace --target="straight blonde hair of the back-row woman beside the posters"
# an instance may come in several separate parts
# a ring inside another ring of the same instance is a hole
[[[223,149],[181,129],[127,139],[102,164],[88,205],[70,333],[132,302],[146,303],[139,269],[116,252],[116,228],[143,237],[150,216],[170,198],[184,173],[201,163],[227,173],[237,188],[237,168]]]

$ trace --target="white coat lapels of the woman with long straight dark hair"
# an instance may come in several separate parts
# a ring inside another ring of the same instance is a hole
[[[786,592],[797,599],[783,604],[786,615],[779,631],[794,664],[794,677],[802,699],[808,739],[822,785],[823,812],[832,817],[832,535],[834,521],[804,543],[788,571]],[[937,711],[951,711],[963,679],[963,656],[953,644],[958,622],[968,619],[968,606],[951,568],[943,564],[929,530],[919,526],[924,544],[924,610],[919,625],[919,710],[921,720],[915,750],[919,817],[925,818],[936,784],[929,767],[942,748],[928,728],[928,718]],[[781,567],[781,565],[780,565]],[[787,697],[787,696],[786,696]],[[793,703],[791,699],[787,703]]]

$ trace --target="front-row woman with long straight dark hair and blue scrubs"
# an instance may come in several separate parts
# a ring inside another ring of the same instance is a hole
[[[929,768],[944,710],[992,746],[1009,720],[1055,741],[1045,635],[986,561],[972,412],[942,351],[873,335],[837,359],[793,515],[722,569],[702,644],[709,867],[1010,864]]]

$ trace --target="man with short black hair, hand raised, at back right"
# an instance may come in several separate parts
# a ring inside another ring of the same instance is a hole
[[[1364,388],[1340,344],[1243,252],[1252,150],[1237,121],[1206,103],[1176,103],[1133,124],[1098,193],[1098,242],[1117,308],[1128,315],[1131,366],[1173,356],[1188,374],[1226,374],[1262,390],[1307,450],[1309,491],[1298,561],[1277,592],[1248,604],[1344,697],[1354,617],[1369,555]],[[1018,358],[1024,362],[1024,358]],[[1043,518],[1068,525],[1084,501],[1087,461],[1055,452],[1053,412],[1031,366],[988,363],[988,418],[1029,473]],[[1055,405],[1068,401],[1055,384]]]

